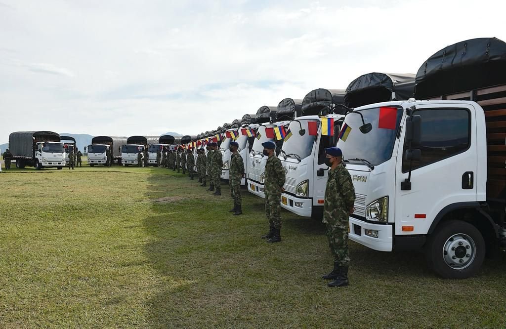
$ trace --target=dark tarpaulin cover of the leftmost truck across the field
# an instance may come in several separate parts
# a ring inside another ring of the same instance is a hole
[[[54,132],[14,132],[9,135],[9,150],[13,156],[33,157],[34,142],[60,142],[60,135]]]

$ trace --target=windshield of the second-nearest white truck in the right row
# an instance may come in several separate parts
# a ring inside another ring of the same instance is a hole
[[[287,140],[285,140],[285,142],[283,143],[283,147],[281,148],[286,153],[287,157],[297,158],[297,156],[299,156],[301,159],[304,159],[311,154],[311,151],[313,150],[313,146],[315,144],[316,135],[309,135],[309,128],[308,128],[309,121],[316,121],[317,125],[319,125],[319,121],[315,119],[296,120],[290,122],[288,128],[290,129],[291,136]],[[301,126],[302,129],[306,131],[306,133],[303,136],[299,134]],[[285,130],[286,133],[288,134],[288,129],[285,128]]]

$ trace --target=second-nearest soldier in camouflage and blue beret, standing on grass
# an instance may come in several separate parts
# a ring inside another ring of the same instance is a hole
[[[267,155],[265,164],[265,215],[269,220],[269,233],[262,235],[267,242],[281,241],[281,192],[284,191],[286,174],[281,160],[274,154],[274,142],[262,143],[264,155]]]

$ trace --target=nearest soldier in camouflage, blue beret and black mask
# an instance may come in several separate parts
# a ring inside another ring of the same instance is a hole
[[[328,286],[348,285],[348,267],[350,266],[350,252],[348,250],[348,216],[355,208],[355,188],[353,182],[343,166],[343,152],[339,147],[325,148],[327,153],[325,164],[328,171],[327,187],[325,189],[325,203],[323,204],[323,220],[327,224],[325,235],[328,238],[330,251],[334,256],[334,269],[323,279],[333,279]]]

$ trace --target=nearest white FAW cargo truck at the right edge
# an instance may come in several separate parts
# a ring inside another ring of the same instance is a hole
[[[477,273],[506,244],[506,44],[466,40],[431,56],[415,96],[346,115],[338,146],[356,193],[349,238],[423,250],[441,276]],[[343,131],[347,131],[343,134]]]

